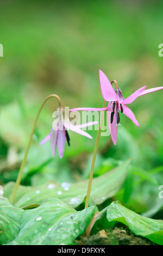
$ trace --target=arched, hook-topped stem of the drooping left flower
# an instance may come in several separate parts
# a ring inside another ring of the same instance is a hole
[[[31,131],[31,133],[30,133],[28,145],[27,145],[27,148],[26,148],[26,151],[25,151],[25,154],[24,154],[24,158],[23,158],[23,161],[22,161],[22,164],[21,164],[21,167],[20,167],[20,171],[19,171],[18,176],[17,176],[17,180],[16,180],[16,184],[15,184],[15,187],[14,187],[14,191],[12,192],[12,195],[11,195],[11,198],[10,198],[11,204],[14,202],[14,198],[15,198],[15,194],[16,194],[16,192],[17,192],[17,188],[18,188],[18,186],[20,185],[20,182],[21,182],[21,178],[22,178],[22,173],[23,173],[24,165],[25,165],[25,163],[26,163],[26,159],[27,159],[27,155],[28,155],[30,143],[32,142],[32,137],[33,137],[33,134],[34,134],[34,131],[35,131],[35,127],[36,127],[36,124],[37,124],[37,120],[38,120],[38,118],[39,118],[39,115],[40,115],[40,112],[41,112],[43,106],[45,105],[45,102],[46,102],[48,99],[50,99],[51,97],[57,98],[58,101],[59,101],[59,106],[60,106],[60,108],[62,108],[60,97],[59,97],[57,94],[51,94],[51,95],[47,96],[47,97],[45,98],[45,100],[42,102],[42,104],[41,104],[41,106],[40,106],[40,108],[39,108],[39,111],[37,112],[37,115],[36,115],[36,118],[35,118],[35,121],[34,121],[34,125],[33,125],[33,128],[32,128],[32,131]]]

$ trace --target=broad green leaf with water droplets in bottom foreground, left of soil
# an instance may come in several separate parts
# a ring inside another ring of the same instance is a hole
[[[72,245],[94,214],[93,206],[76,211],[57,198],[49,198],[38,208],[23,211],[20,232],[7,245]]]

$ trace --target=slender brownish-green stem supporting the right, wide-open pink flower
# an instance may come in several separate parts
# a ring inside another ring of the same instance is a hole
[[[106,101],[104,100],[103,107],[105,107],[105,106],[106,106]],[[87,208],[89,206],[92,179],[93,179],[93,171],[94,171],[94,168],[95,168],[95,161],[96,161],[99,137],[101,135],[101,125],[102,125],[102,122],[103,122],[103,117],[104,117],[104,111],[102,111],[102,115],[101,115],[101,119],[100,119],[100,123],[99,123],[99,128],[98,128],[98,132],[97,132],[97,137],[96,137],[95,149],[93,151],[93,158],[92,158],[92,164],[91,164],[91,170],[90,170],[90,178],[89,178],[89,184],[88,184],[88,187],[87,187],[87,194],[86,194],[86,200],[85,200],[85,208]]]

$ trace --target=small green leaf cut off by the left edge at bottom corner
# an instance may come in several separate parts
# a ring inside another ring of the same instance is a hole
[[[0,198],[0,245],[8,243],[18,235],[23,210]]]

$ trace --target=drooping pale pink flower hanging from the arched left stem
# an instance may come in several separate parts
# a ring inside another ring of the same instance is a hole
[[[40,145],[50,140],[53,157],[55,156],[56,147],[58,147],[59,157],[62,158],[64,156],[66,140],[68,145],[70,146],[70,137],[68,135],[67,130],[77,132],[80,135],[83,135],[87,138],[92,139],[89,133],[81,130],[81,128],[95,125],[98,122],[94,121],[94,122],[89,122],[82,125],[73,125],[67,116],[65,116],[65,121],[63,120],[62,109],[58,109],[58,116],[59,118],[55,120],[53,123],[51,132],[48,134],[48,136],[45,139],[43,139]]]

